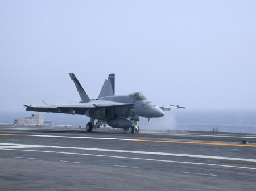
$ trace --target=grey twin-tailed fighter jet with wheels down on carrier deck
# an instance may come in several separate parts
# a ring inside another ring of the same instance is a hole
[[[75,74],[69,73],[69,76],[75,83],[81,97],[79,103],[43,100],[45,105],[24,105],[27,107],[26,111],[88,116],[90,117],[90,122],[86,125],[88,132],[91,132],[93,128],[105,127],[108,124],[112,128],[123,128],[125,131],[130,130],[130,133],[134,133],[134,131],[139,133],[139,117],[148,118],[149,121],[150,118],[164,116],[164,111],[170,111],[171,108],[185,108],[179,107],[179,105],[168,105],[167,107],[155,105],[148,101],[141,92],[115,95],[115,74],[109,74],[97,99],[89,99]],[[96,123],[95,120],[97,120]]]

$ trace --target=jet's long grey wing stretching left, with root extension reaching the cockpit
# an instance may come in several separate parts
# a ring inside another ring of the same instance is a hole
[[[121,105],[133,105],[130,103],[121,103],[114,101],[90,101],[88,103],[68,103],[62,101],[43,101],[44,103],[51,103],[46,105],[24,105],[26,111],[36,112],[51,112],[51,113],[67,113],[67,114],[81,114],[84,115],[90,108],[100,107],[116,107]],[[62,104],[61,104],[62,103]]]

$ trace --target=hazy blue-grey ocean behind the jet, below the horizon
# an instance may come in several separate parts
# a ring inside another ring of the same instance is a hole
[[[15,118],[30,117],[36,112],[0,112],[0,123],[13,124]],[[189,130],[219,132],[256,133],[256,110],[189,110],[171,109],[161,118],[140,118],[139,126],[154,130]],[[45,120],[53,125],[85,126],[90,119],[86,116],[59,113],[43,113]]]

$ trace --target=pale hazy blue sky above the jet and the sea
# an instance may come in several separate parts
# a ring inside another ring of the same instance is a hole
[[[256,109],[256,1],[0,0],[0,111],[116,95],[155,104]]]

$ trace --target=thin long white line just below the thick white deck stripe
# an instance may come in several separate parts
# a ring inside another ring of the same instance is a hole
[[[57,152],[57,151],[40,151],[40,150],[21,150],[21,149],[9,149],[9,150],[28,151],[28,152],[48,152],[48,153],[86,155],[86,156],[102,156],[102,157],[108,157],[108,158],[135,159],[135,160],[147,160],[147,161],[168,162],[168,163],[199,164],[199,165],[210,165],[215,167],[250,169],[250,170],[256,171],[256,168],[250,168],[250,167],[238,167],[238,166],[232,166],[232,165],[220,165],[220,164],[208,164],[208,163],[193,163],[193,162],[183,162],[183,161],[175,161],[175,160],[158,160],[158,159],[146,159],[146,158],[133,158],[133,157],[125,157],[125,156],[94,155],[94,154],[84,154],[84,153],[77,153],[77,152]]]

